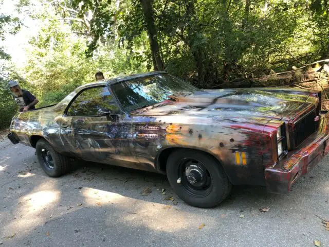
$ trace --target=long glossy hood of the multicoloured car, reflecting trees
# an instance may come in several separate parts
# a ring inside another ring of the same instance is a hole
[[[180,92],[152,107],[134,111],[144,116],[200,116],[226,119],[294,119],[314,104],[305,91],[273,89],[224,89]],[[266,121],[266,122],[267,122]]]

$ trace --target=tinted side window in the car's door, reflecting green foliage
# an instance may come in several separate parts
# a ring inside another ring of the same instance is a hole
[[[108,109],[113,113],[119,108],[106,86],[86,89],[78,95],[67,110],[68,116],[97,116],[99,109]]]

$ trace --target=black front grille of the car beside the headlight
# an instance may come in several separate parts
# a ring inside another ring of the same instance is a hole
[[[316,117],[315,111],[308,113],[305,117],[300,119],[294,128],[295,148],[299,146],[308,136],[316,131]]]

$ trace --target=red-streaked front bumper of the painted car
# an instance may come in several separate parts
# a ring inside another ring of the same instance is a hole
[[[287,193],[299,177],[318,164],[329,151],[329,112],[321,114],[318,131],[274,166],[265,169],[268,192]]]

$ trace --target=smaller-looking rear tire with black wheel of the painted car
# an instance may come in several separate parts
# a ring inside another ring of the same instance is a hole
[[[35,146],[39,164],[49,177],[60,177],[68,171],[70,160],[56,152],[45,139],[40,139]]]

